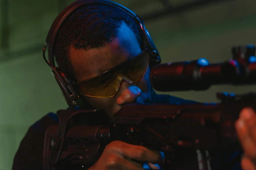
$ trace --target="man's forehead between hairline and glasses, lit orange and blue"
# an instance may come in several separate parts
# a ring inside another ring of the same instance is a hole
[[[75,77],[77,81],[82,81],[95,77],[140,52],[135,34],[126,25],[122,25],[111,43],[89,50],[77,50],[71,46],[70,57]]]

